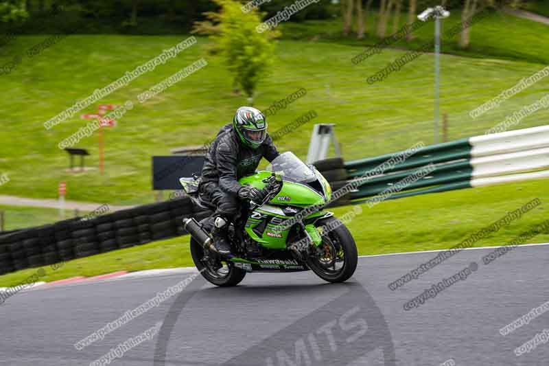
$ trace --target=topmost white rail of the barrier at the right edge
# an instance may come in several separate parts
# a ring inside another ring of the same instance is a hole
[[[471,137],[471,157],[549,148],[549,126]]]

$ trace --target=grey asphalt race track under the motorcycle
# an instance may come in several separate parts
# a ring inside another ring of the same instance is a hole
[[[73,344],[189,274],[126,278],[19,293],[0,306],[0,365],[90,365],[163,321],[159,334],[111,365],[549,365],[549,344],[513,350],[549,328],[549,312],[502,336],[500,328],[549,300],[549,246],[467,250],[397,290],[388,283],[436,253],[360,258],[347,284],[312,272],[252,274],[236,288],[197,277],[181,293],[76,350]],[[425,304],[406,301],[478,264]],[[452,363],[447,363],[452,365]]]

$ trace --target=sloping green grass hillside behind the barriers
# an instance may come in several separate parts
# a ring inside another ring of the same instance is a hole
[[[497,32],[507,27],[505,21],[492,22],[491,27]],[[523,27],[526,36],[537,26],[531,23]],[[492,28],[484,33],[480,32],[482,27],[475,29],[473,48],[480,47],[478,38],[482,34],[493,34]],[[520,36],[513,33],[517,40]],[[26,49],[44,38],[17,38],[0,49],[0,62],[10,61],[14,54],[25,55]],[[58,143],[86,125],[88,121],[80,119],[80,113],[51,130],[45,130],[43,123],[185,38],[72,35],[34,58],[23,56],[12,73],[0,76],[8,95],[0,100],[4,126],[0,130],[0,172],[8,173],[11,179],[0,186],[0,193],[54,198],[58,182],[67,181],[67,198],[71,200],[120,205],[152,201],[151,156],[169,155],[170,148],[209,141],[222,124],[231,120],[237,106],[248,103],[243,95],[233,93],[231,76],[220,59],[205,50],[207,38],[198,38],[197,45],[80,112],[97,113],[101,103],[132,100],[136,104],[116,128],[104,133],[105,176],[97,171],[97,134],[76,145],[90,150],[87,164],[94,169],[78,174],[66,171],[69,159]],[[491,38],[486,39],[491,43]],[[538,38],[539,57],[546,57],[548,45],[549,40]],[[500,45],[500,52],[509,53],[515,48],[511,39]],[[361,49],[338,43],[279,41],[273,55],[274,68],[259,85],[255,106],[268,108],[285,95],[305,88],[307,94],[303,98],[270,117],[271,130],[309,110],[318,113],[316,119],[278,141],[281,150],[293,150],[305,157],[312,125],[320,122],[337,124],[336,133],[346,159],[401,150],[419,141],[432,142],[432,55],[423,55],[383,82],[369,85],[368,76],[404,52],[386,49],[360,65],[352,65],[351,58]],[[205,58],[209,65],[139,104],[139,93],[199,58]],[[473,120],[468,115],[471,109],[544,65],[531,60],[453,55],[443,55],[441,65],[441,112],[448,115],[449,139],[482,135],[506,115],[535,102],[549,90],[547,80],[542,80]],[[514,128],[546,124],[548,116],[547,110],[538,111]]]

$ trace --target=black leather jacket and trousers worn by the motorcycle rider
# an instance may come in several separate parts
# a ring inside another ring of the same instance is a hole
[[[200,183],[200,198],[217,207],[211,218],[233,221],[240,214],[238,179],[254,174],[262,157],[270,162],[278,156],[268,133],[263,144],[253,149],[241,143],[233,124],[223,126],[206,154]]]

